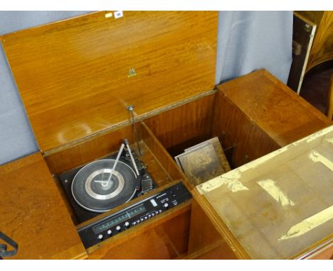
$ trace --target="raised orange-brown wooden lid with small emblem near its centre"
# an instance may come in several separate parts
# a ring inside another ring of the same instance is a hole
[[[214,87],[218,13],[111,11],[3,35],[43,151]]]

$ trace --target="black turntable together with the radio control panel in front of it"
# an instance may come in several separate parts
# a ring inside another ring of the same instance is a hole
[[[141,154],[139,141],[137,146],[137,152]],[[173,182],[166,189],[152,192],[157,184],[138,156],[125,139],[115,155],[58,175],[80,223],[78,234],[85,248],[191,199],[191,194],[181,182]],[[115,209],[142,195],[145,195],[142,199]],[[110,213],[93,219],[107,211]]]

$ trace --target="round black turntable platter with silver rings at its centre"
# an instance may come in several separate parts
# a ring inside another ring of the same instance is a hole
[[[136,178],[132,167],[118,161],[110,179],[113,159],[90,162],[81,168],[72,182],[75,201],[88,211],[102,213],[132,199],[136,192]]]

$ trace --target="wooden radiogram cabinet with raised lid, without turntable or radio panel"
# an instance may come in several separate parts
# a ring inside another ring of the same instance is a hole
[[[1,37],[41,150],[0,167],[0,229],[19,245],[14,258],[241,258],[194,199],[88,249],[77,233],[178,182],[196,197],[173,159],[191,145],[218,136],[237,168],[332,125],[265,70],[215,87],[217,20],[101,11]],[[129,105],[157,189],[79,223],[58,176],[124,138],[136,150]]]

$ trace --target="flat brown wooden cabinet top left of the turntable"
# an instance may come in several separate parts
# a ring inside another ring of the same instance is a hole
[[[0,229],[18,243],[18,253],[8,259],[85,257],[40,153],[1,166],[0,185]]]

